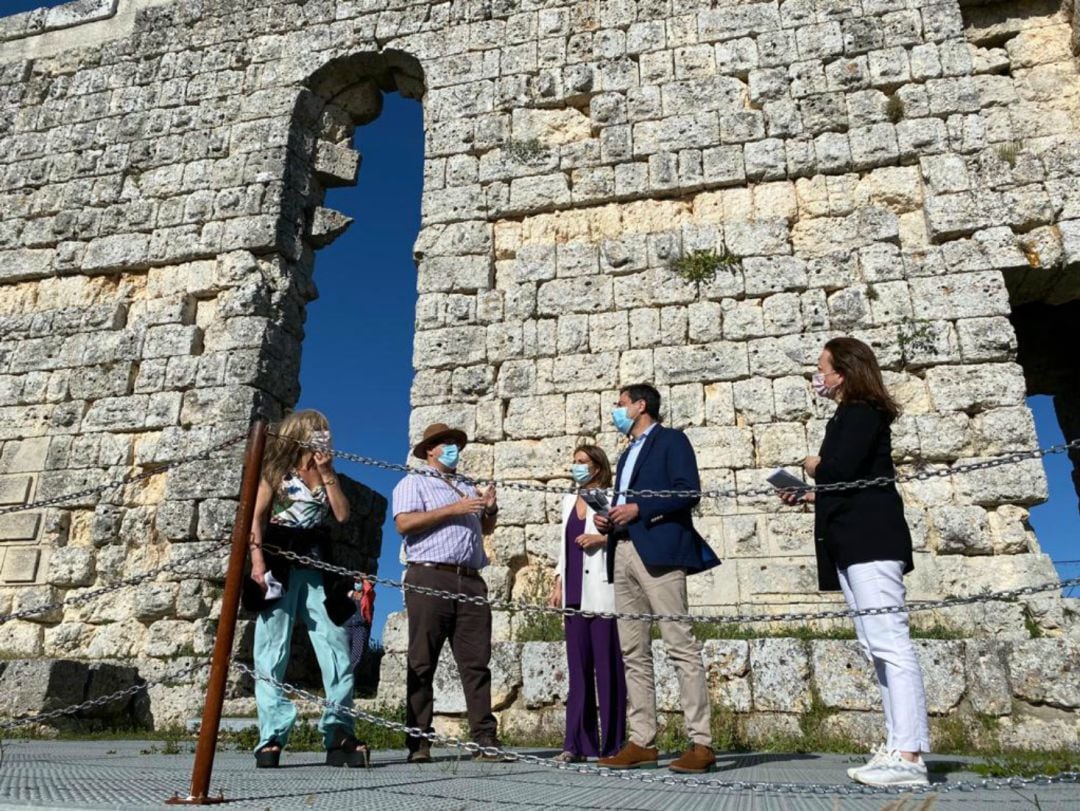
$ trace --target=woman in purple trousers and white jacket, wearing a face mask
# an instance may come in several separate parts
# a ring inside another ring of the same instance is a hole
[[[581,445],[573,451],[570,475],[583,489],[607,489],[611,462],[597,446]],[[607,538],[596,531],[594,515],[581,496],[563,499],[563,542],[549,599],[554,607],[615,611],[615,586],[607,581]],[[626,679],[616,620],[571,616],[565,622],[570,689],[563,754],[555,759],[578,763],[586,757],[608,757],[622,746]]]

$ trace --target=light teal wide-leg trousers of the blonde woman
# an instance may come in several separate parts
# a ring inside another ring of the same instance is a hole
[[[323,674],[323,689],[327,701],[342,707],[352,706],[352,668],[349,666],[349,634],[330,622],[323,600],[323,576],[311,569],[293,569],[288,589],[272,608],[260,611],[255,620],[255,672],[285,680],[293,627],[299,620],[308,628],[311,647],[315,649],[319,668]],[[270,741],[282,746],[296,724],[296,706],[284,691],[268,681],[255,680],[255,705],[259,713],[259,744]],[[319,721],[323,745],[329,746],[341,732],[351,735],[355,721],[348,713],[326,707]]]

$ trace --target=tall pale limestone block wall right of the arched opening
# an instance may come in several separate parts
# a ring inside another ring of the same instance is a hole
[[[418,241],[414,434],[450,419],[483,443],[471,471],[565,481],[579,436],[619,451],[618,387],[651,380],[705,486],[756,487],[818,447],[828,409],[807,373],[849,333],[903,402],[902,471],[1031,447],[1009,315],[1077,296],[1069,19],[1057,3],[577,4],[539,13],[532,84],[504,75],[527,41],[498,77],[478,58],[468,82],[432,73],[427,220],[496,222]],[[546,69],[554,54],[569,65]],[[523,109],[515,87],[540,98]],[[686,282],[672,265],[694,251],[738,261]],[[1054,577],[1026,524],[1038,464],[904,497],[913,597]],[[490,579],[542,593],[529,575],[557,555],[558,499],[503,500]],[[727,564],[691,580],[697,606],[822,599],[811,515],[699,513]],[[993,634],[1024,610],[930,619]],[[1063,621],[1056,600],[1030,610]]]

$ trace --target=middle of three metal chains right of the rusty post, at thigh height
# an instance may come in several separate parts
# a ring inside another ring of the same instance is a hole
[[[954,606],[967,606],[976,603],[990,602],[1013,602],[1020,597],[1027,597],[1034,594],[1057,591],[1080,584],[1080,577],[1069,580],[1054,580],[1047,583],[1025,585],[1020,589],[1009,589],[1000,592],[986,592],[973,594],[967,597],[945,597],[943,599],[928,599],[908,603],[904,606],[883,606],[881,608],[863,608],[852,611],[847,608],[834,609],[829,611],[787,611],[784,613],[751,613],[751,614],[699,614],[699,613],[619,613],[618,611],[583,611],[580,608],[567,608],[565,606],[552,607],[537,603],[524,603],[511,599],[491,599],[480,595],[469,596],[458,592],[444,592],[438,589],[431,589],[423,585],[415,585],[401,580],[390,580],[376,575],[368,575],[362,571],[353,571],[343,566],[335,566],[325,560],[320,560],[308,555],[300,555],[291,550],[282,549],[272,544],[264,543],[262,549],[281,557],[286,557],[302,566],[312,569],[328,571],[333,575],[353,578],[360,582],[366,580],[376,585],[384,585],[390,589],[424,594],[429,597],[441,597],[457,603],[469,603],[477,606],[490,606],[500,611],[511,611],[521,613],[557,613],[563,617],[602,617],[616,620],[640,620],[643,622],[719,622],[719,623],[757,623],[757,622],[805,622],[807,620],[834,620],[854,617],[869,617],[886,613],[909,613],[912,611],[930,611],[939,608],[951,608]]]

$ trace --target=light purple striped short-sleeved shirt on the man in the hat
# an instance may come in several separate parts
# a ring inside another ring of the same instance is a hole
[[[436,476],[407,475],[394,487],[394,516],[431,512],[460,501],[462,495],[475,496],[476,491],[457,482],[450,486],[445,478]],[[487,555],[480,516],[459,515],[426,532],[405,536],[405,559],[483,569],[487,566]]]

